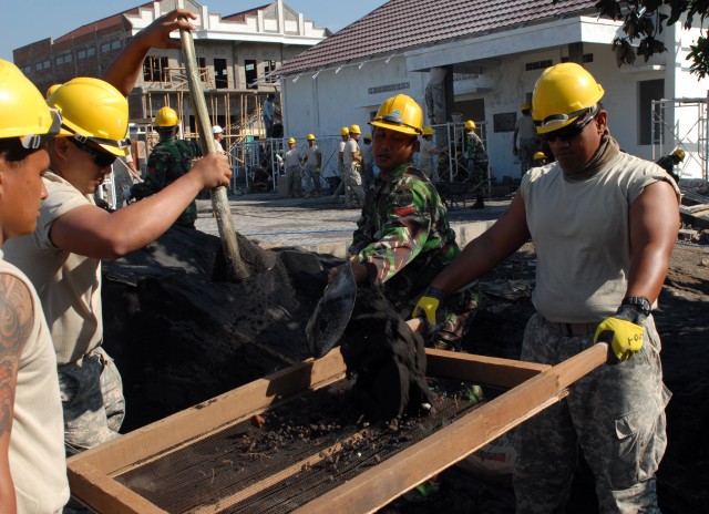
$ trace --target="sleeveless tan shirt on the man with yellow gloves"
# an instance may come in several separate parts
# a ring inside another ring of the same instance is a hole
[[[658,181],[670,183],[679,197],[662,168],[623,152],[584,181],[569,181],[557,163],[522,177],[537,255],[532,300],[542,316],[594,323],[615,313],[630,268],[630,204]]]

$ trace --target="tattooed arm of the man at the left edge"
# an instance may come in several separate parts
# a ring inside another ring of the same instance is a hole
[[[20,353],[33,321],[27,286],[12,275],[0,275],[0,506],[14,513],[17,500],[10,474],[10,433],[14,412]]]

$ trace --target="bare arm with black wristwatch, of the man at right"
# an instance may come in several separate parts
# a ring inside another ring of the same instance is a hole
[[[669,268],[679,229],[677,195],[667,182],[645,188],[630,205],[630,248],[633,260],[626,296],[657,300]]]

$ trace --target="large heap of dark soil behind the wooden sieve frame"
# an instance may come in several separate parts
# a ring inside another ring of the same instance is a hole
[[[340,259],[238,237],[250,277],[225,281],[217,237],[174,227],[104,263],[104,347],[124,382],[122,431],[308,357],[305,326]]]

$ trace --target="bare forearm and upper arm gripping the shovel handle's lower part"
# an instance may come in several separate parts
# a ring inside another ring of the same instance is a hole
[[[97,259],[112,260],[135,251],[160,237],[204,188],[229,185],[232,169],[226,155],[209,153],[161,192],[109,213],[85,205],[52,224],[50,237],[60,248]]]

